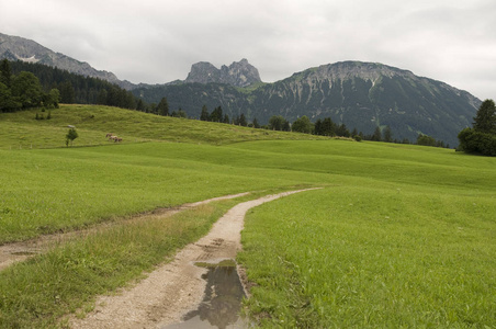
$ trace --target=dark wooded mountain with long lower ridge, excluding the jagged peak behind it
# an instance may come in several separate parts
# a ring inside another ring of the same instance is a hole
[[[199,80],[198,80],[199,81]],[[244,113],[267,123],[272,115],[290,122],[331,117],[372,134],[390,126],[393,138],[415,141],[418,134],[458,145],[458,133],[472,124],[481,100],[444,82],[377,63],[341,61],[309,68],[273,83],[238,90],[219,83],[179,83],[133,90],[147,102],[167,97],[170,106],[199,117],[203,104],[221,105],[229,116]]]

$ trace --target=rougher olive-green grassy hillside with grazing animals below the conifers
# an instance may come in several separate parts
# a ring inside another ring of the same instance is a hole
[[[79,137],[75,146],[111,144],[105,138],[112,133],[123,144],[142,141],[181,141],[229,144],[259,139],[317,139],[304,134],[289,134],[200,121],[165,117],[143,112],[101,105],[60,105],[50,111],[0,113],[0,149],[65,147],[68,125],[76,126]]]

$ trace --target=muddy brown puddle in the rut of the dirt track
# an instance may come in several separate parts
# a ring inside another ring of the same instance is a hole
[[[198,309],[183,317],[184,322],[166,326],[162,329],[249,328],[238,315],[245,292],[236,271],[236,263],[233,260],[225,260],[217,264],[195,263],[195,265],[208,269],[202,276],[206,280],[203,302]]]

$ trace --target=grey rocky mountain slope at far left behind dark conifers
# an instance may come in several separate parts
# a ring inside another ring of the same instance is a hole
[[[3,58],[57,67],[71,73],[106,80],[127,90],[135,87],[128,81],[119,80],[112,72],[97,70],[88,63],[55,53],[34,41],[0,33],[0,59]]]

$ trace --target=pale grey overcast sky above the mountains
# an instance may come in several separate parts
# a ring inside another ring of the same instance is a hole
[[[0,0],[0,32],[135,83],[198,61],[247,58],[273,82],[362,60],[496,99],[495,0]]]

